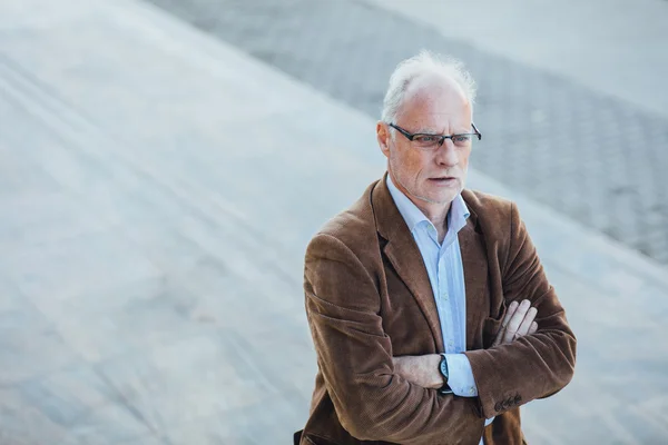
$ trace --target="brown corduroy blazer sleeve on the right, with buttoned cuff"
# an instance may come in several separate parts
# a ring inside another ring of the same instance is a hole
[[[465,353],[485,417],[557,393],[570,382],[576,366],[576,337],[514,204],[505,245],[505,253],[499,255],[505,257],[499,261],[503,297],[508,304],[531,300],[538,309],[538,332],[510,344]]]

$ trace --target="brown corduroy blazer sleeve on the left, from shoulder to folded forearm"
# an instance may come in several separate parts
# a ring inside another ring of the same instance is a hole
[[[402,444],[481,437],[475,399],[443,396],[394,374],[376,279],[338,238],[320,234],[311,241],[304,289],[318,367],[351,435]]]

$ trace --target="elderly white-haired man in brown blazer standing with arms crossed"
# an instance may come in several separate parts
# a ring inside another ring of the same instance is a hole
[[[318,373],[297,444],[522,444],[519,407],[571,379],[576,338],[517,207],[464,189],[474,85],[423,52],[390,79],[387,174],[313,238]]]

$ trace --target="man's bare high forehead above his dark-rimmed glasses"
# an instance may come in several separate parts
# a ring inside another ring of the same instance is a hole
[[[414,131],[450,131],[470,128],[471,111],[471,102],[454,80],[433,75],[409,86],[399,116]]]

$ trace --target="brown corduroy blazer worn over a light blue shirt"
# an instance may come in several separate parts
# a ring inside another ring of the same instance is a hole
[[[422,256],[390,195],[372,184],[306,250],[306,315],[318,373],[302,445],[522,444],[519,406],[573,375],[576,337],[514,204],[464,190],[459,233],[466,356],[479,396],[440,395],[394,374],[392,357],[444,352]],[[491,347],[511,301],[530,299],[538,332]],[[484,428],[484,418],[495,416]]]

